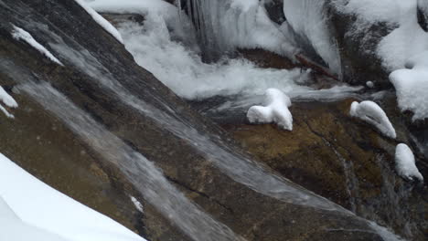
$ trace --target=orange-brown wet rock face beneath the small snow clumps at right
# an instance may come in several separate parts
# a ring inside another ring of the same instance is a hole
[[[239,124],[239,119],[217,120],[243,148],[284,177],[390,226],[401,236],[424,240],[426,184],[407,183],[394,171],[395,146],[410,140],[393,96],[382,105],[398,133],[396,141],[352,119],[348,115],[352,101],[294,102],[293,131]],[[417,164],[427,176],[426,159],[419,155]]]

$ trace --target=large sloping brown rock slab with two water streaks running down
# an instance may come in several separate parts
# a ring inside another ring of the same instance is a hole
[[[0,85],[19,103],[15,121],[0,117],[0,152],[147,239],[382,240],[253,162],[75,1],[0,0],[0,36]]]

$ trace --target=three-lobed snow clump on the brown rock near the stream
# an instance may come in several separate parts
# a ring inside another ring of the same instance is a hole
[[[292,131],[293,116],[288,110],[291,106],[290,98],[279,89],[267,89],[266,106],[252,106],[247,112],[251,123],[276,123],[279,127]]]

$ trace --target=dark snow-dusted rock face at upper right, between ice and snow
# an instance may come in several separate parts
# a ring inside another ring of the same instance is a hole
[[[327,7],[328,24],[340,51],[344,81],[364,85],[371,80],[378,88],[389,87],[389,72],[382,67],[376,52],[382,37],[398,26],[384,22],[365,23],[358,16],[338,11],[336,4]]]

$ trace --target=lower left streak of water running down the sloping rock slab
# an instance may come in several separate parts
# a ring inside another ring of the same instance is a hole
[[[153,162],[148,161],[141,153],[135,152],[111,132],[106,131],[47,83],[29,82],[17,89],[26,92],[46,110],[55,113],[93,150],[117,166],[130,178],[147,202],[154,205],[193,240],[244,240],[235,235],[229,227],[215,221],[197,205],[187,200],[168,183],[162,171],[157,169]]]

